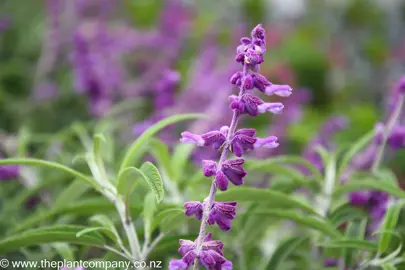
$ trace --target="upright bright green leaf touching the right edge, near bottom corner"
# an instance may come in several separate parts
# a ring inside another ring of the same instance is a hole
[[[380,241],[378,242],[378,252],[384,253],[391,242],[392,232],[395,231],[395,228],[398,223],[399,215],[401,209],[404,206],[405,201],[399,201],[395,204],[392,204],[385,213],[384,222],[381,226],[379,232],[381,233]]]

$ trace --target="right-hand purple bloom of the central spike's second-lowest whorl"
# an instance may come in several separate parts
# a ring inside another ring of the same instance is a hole
[[[231,220],[236,216],[237,202],[214,202],[211,212],[208,217],[208,223],[213,225],[218,224],[223,231],[231,229]]]

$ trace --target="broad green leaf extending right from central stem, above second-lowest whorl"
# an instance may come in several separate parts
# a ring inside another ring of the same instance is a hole
[[[277,208],[290,207],[299,208],[309,213],[316,214],[312,206],[300,202],[297,199],[273,190],[257,189],[251,187],[230,188],[226,192],[216,195],[217,201],[238,201],[238,202],[263,202]]]

